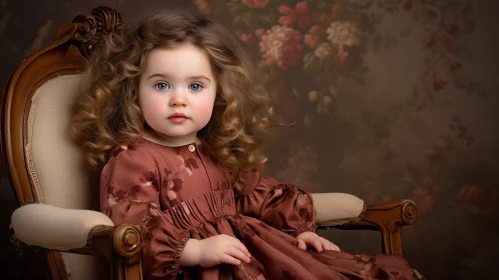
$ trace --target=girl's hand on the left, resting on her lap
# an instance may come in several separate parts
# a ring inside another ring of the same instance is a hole
[[[212,267],[221,263],[240,265],[250,262],[250,253],[239,239],[220,234],[199,241],[199,265]]]

